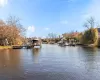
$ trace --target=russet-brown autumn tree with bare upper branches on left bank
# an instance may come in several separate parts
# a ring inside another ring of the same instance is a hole
[[[9,45],[18,44],[23,40],[23,29],[18,18],[10,16],[7,22],[0,20],[0,43],[4,45],[6,41]]]

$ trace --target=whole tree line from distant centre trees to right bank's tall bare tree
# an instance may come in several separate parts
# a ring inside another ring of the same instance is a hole
[[[60,37],[56,37],[55,34],[48,34],[48,38],[44,40],[44,42],[59,42],[62,38],[65,41],[69,42],[69,40],[74,40],[76,43],[81,45],[91,45],[100,46],[100,28],[96,24],[96,21],[93,17],[90,17],[86,20],[84,27],[86,28],[83,32],[72,31],[69,33],[64,33]]]

